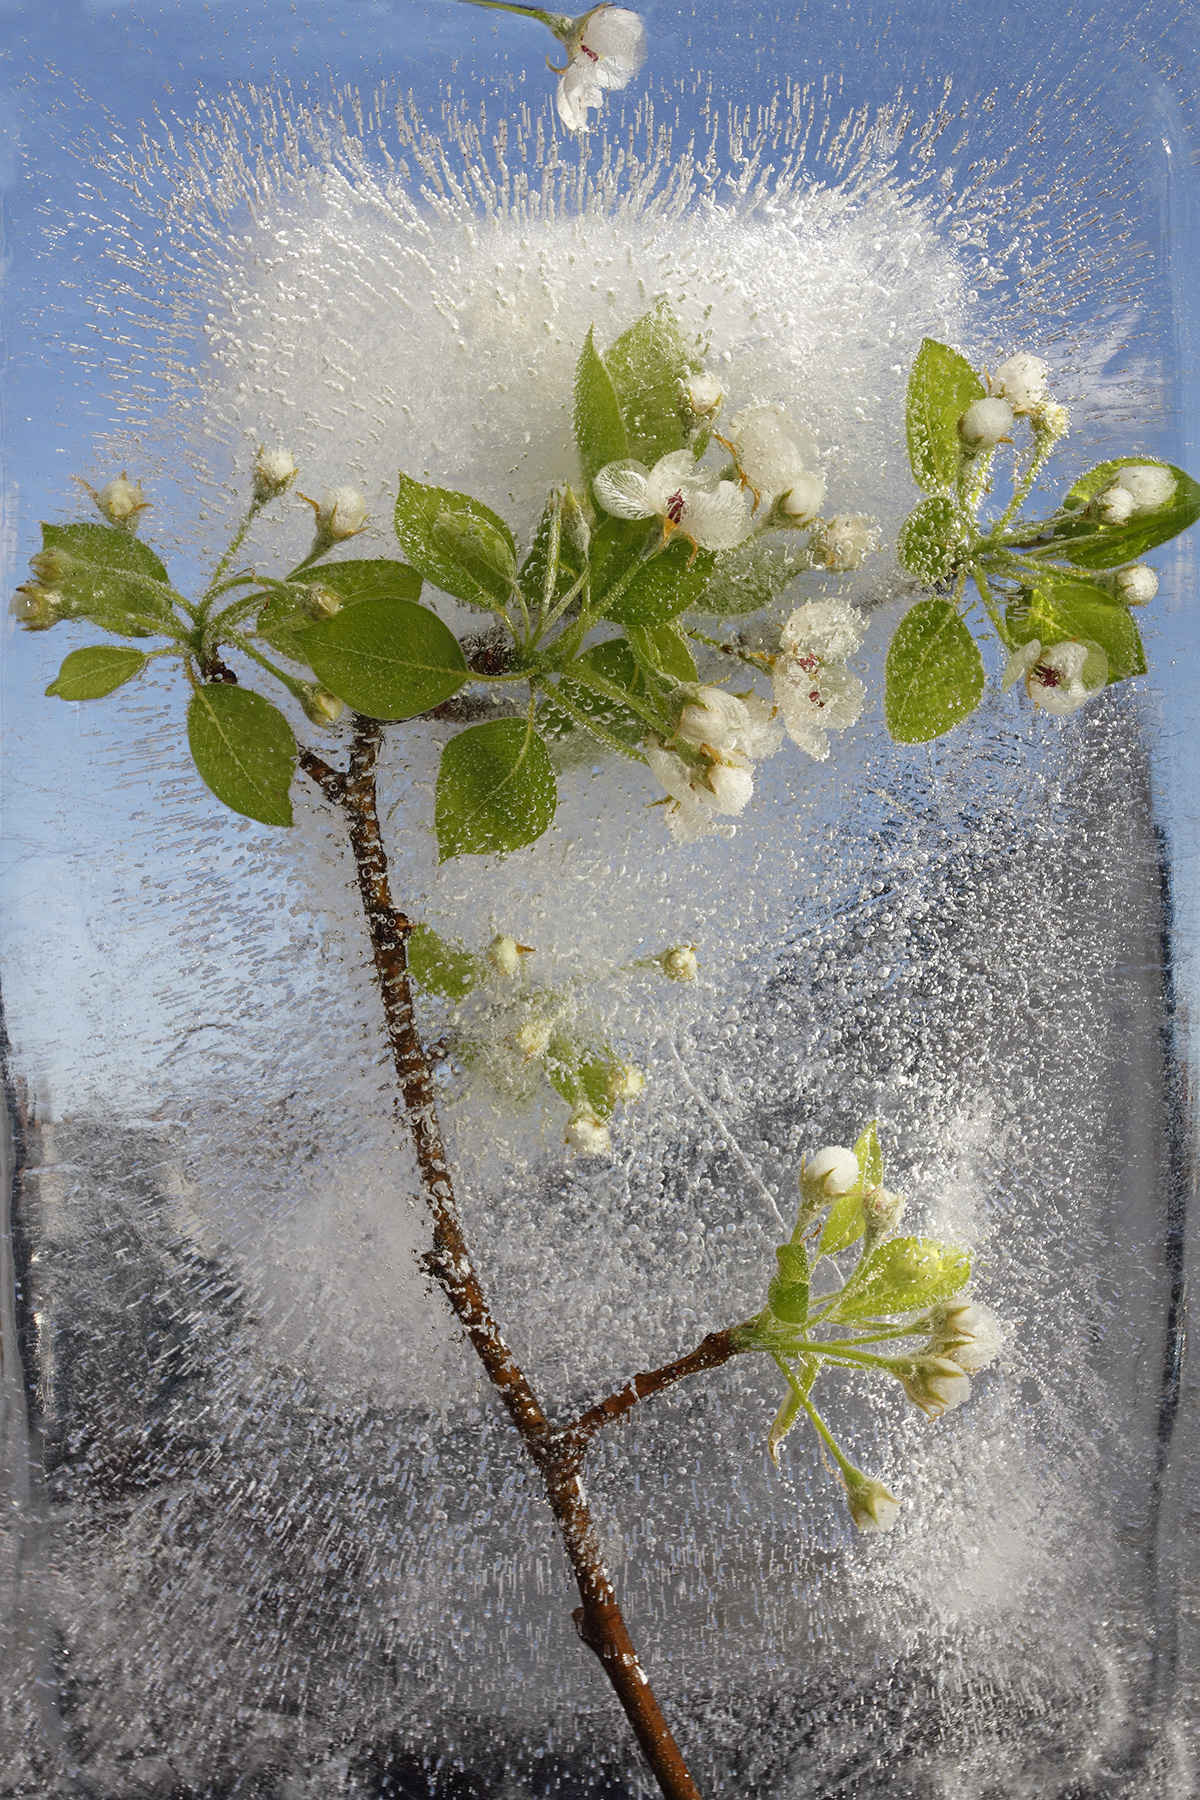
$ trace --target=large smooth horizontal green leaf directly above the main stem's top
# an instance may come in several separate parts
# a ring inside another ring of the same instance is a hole
[[[470,675],[453,632],[410,599],[363,599],[311,625],[302,643],[317,680],[367,718],[416,718]]]

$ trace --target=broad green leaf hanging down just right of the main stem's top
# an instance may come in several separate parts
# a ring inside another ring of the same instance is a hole
[[[545,743],[524,718],[495,718],[452,738],[437,772],[437,851],[491,857],[533,844],[558,792]]]

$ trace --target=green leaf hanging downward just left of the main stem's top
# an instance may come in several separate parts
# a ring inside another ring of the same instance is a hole
[[[295,738],[261,693],[225,682],[198,688],[187,707],[187,742],[201,779],[232,812],[291,824]]]

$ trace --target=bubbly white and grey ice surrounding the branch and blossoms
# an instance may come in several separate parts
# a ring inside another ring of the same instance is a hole
[[[570,468],[587,326],[615,335],[667,293],[738,400],[808,419],[831,502],[894,535],[918,338],[1016,342],[977,256],[1013,198],[910,180],[898,117],[844,133],[840,173],[804,160],[804,104],[770,175],[748,142],[725,180],[651,135],[583,189],[529,121],[500,146],[522,173],[493,185],[466,126],[443,151],[389,113],[371,155],[381,104],[353,128],[279,121],[273,162],[246,148],[257,121],[212,115],[196,160],[148,164],[171,256],[201,250],[180,290],[205,297],[207,351],[167,425],[149,394],[133,427],[214,470],[214,513],[246,445],[277,437],[304,482],[363,484],[380,544],[396,466],[527,529]],[[1027,209],[1011,256],[1036,286]],[[1070,329],[1067,385],[1094,349]],[[871,610],[878,691],[901,578],[882,560],[837,590]],[[142,934],[137,1100],[112,1042],[59,1075],[65,1107],[14,1096],[29,1523],[9,1535],[5,1791],[644,1793],[531,1471],[417,1278],[326,806],[300,792],[286,837],[221,815],[158,691],[139,704],[133,779],[155,792],[108,895]],[[851,1535],[811,1438],[770,1469],[777,1395],[750,1359],[597,1445],[613,1575],[705,1795],[1189,1793],[1162,1458],[1184,1152],[1139,700],[1065,725],[997,700],[932,751],[867,720],[828,765],[765,765],[738,837],[684,850],[637,772],[569,761],[547,839],[437,873],[444,734],[390,734],[396,895],[473,949],[536,945],[531,979],[579,981],[649,1073],[613,1161],[569,1165],[556,1100],[513,1114],[446,1069],[468,1235],[547,1406],[756,1310],[768,1201],[786,1211],[801,1150],[871,1114],[918,1226],[977,1247],[1006,1323],[1000,1366],[937,1426],[824,1382],[905,1499],[882,1541]],[[630,967],[680,941],[694,986]],[[446,1022],[428,1010],[430,1035]],[[36,1031],[14,1035],[36,1078]]]

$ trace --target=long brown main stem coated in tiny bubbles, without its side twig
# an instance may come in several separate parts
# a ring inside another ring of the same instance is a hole
[[[700,1800],[700,1789],[637,1660],[604,1568],[599,1534],[579,1478],[587,1438],[576,1444],[569,1435],[552,1431],[525,1372],[504,1343],[471,1264],[441,1136],[434,1082],[412,1004],[408,983],[412,920],[392,905],[389,887],[374,781],[381,731],[383,727],[372,720],[358,722],[345,776],[336,776],[311,752],[300,758],[300,767],[322,792],[340,801],[347,815],[358,893],[371,932],[383,1019],[399,1080],[396,1111],[412,1132],[421,1186],[434,1220],[434,1247],[421,1260],[450,1301],[525,1449],[542,1471],[545,1494],[579,1588],[581,1606],[574,1613],[579,1636],[599,1658],[666,1800]]]

